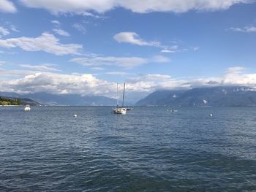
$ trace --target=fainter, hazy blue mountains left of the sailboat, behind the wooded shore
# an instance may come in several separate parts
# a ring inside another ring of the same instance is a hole
[[[80,96],[77,94],[56,95],[41,92],[20,95],[18,93],[0,92],[0,96],[29,98],[46,105],[113,106],[116,104],[116,99],[105,96]]]

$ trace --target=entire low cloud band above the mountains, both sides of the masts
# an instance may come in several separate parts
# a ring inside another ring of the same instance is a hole
[[[109,72],[121,74],[121,72]],[[3,80],[4,75],[18,78]],[[23,75],[23,77],[20,77]],[[159,89],[189,89],[219,85],[247,85],[256,87],[256,73],[246,73],[236,66],[227,69],[222,77],[174,78],[169,74],[132,74],[127,75],[127,93],[131,97],[145,96]],[[59,74],[56,72],[32,72],[0,69],[0,90],[19,93],[78,93],[81,95],[116,96],[116,82],[101,80],[93,74]],[[133,94],[133,96],[132,96]]]

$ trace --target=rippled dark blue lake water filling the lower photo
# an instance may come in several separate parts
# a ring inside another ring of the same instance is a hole
[[[0,191],[256,191],[256,108],[110,110],[0,107]]]

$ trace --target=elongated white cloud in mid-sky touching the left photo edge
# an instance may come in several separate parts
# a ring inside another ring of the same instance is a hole
[[[45,51],[55,55],[79,55],[83,48],[79,44],[61,44],[53,34],[42,33],[39,37],[20,37],[11,39],[0,39],[0,47],[20,47],[26,51]]]

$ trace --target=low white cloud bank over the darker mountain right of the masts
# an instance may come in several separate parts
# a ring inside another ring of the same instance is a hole
[[[230,67],[222,77],[191,77],[177,79],[166,74],[138,74],[127,79],[132,91],[148,92],[159,89],[189,89],[222,85],[244,85],[256,87],[256,73],[246,73],[241,66]]]

